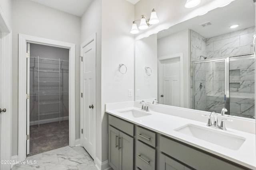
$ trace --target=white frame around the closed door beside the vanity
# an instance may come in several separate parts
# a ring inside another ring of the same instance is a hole
[[[86,45],[90,44],[92,41],[95,41],[95,64],[96,64],[96,57],[97,57],[97,40],[96,40],[96,33],[94,33],[93,35],[91,35],[88,39],[86,39],[80,46],[80,56],[82,56],[82,53],[83,53],[83,48],[86,47]],[[80,80],[82,80],[82,62],[80,60]],[[96,162],[96,120],[97,120],[97,92],[96,92],[96,86],[97,86],[97,81],[96,81],[96,75],[97,75],[97,70],[96,70],[96,65],[95,65],[95,96],[94,96],[94,103],[95,103],[95,121],[94,121],[94,148],[93,148],[93,152],[94,152],[94,155],[95,155],[95,158],[94,158],[94,162]],[[83,81],[80,81],[80,93],[83,92]],[[85,95],[84,95],[85,96]],[[81,98],[81,96],[80,96]],[[82,133],[82,126],[83,126],[83,114],[82,114],[82,111],[83,111],[83,107],[82,107],[83,103],[82,103],[82,100],[80,100],[80,145],[81,147],[83,147],[83,144],[82,144],[82,139],[84,137],[84,133]]]

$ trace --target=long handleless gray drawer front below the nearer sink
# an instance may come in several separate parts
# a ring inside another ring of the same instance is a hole
[[[242,170],[244,168],[232,164],[232,162],[208,154],[202,150],[197,150],[189,145],[174,141],[168,137],[160,136],[159,149],[161,152],[189,165],[196,170]]]

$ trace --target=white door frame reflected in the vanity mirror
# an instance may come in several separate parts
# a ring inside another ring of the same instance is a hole
[[[179,58],[180,59],[180,107],[184,107],[184,96],[183,96],[183,91],[184,91],[184,83],[183,83],[183,53],[178,53],[178,54],[173,54],[173,55],[166,55],[163,57],[158,57],[158,74],[160,73],[160,64],[162,60],[166,59],[174,59],[174,58]],[[159,75],[157,76],[159,77]],[[157,82],[159,82],[159,78],[157,78]],[[159,83],[158,83],[158,96],[159,96]]]

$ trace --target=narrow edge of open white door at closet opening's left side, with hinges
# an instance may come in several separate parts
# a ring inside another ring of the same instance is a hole
[[[30,92],[30,43],[27,43],[27,94]],[[29,125],[30,125],[30,105],[29,95],[27,96],[27,154],[29,154]]]

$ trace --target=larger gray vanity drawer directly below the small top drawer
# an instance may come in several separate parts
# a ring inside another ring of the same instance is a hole
[[[141,170],[155,170],[156,149],[136,141],[136,167]]]

